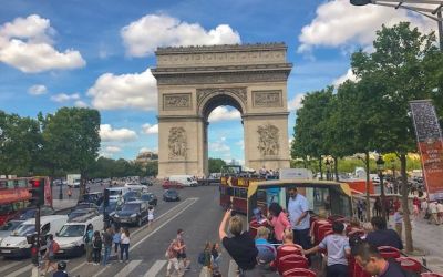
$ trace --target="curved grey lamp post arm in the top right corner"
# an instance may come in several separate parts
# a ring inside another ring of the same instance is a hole
[[[443,0],[350,0],[353,6],[365,6],[369,3],[405,9],[420,13],[436,21],[439,27],[440,51],[443,51]]]

